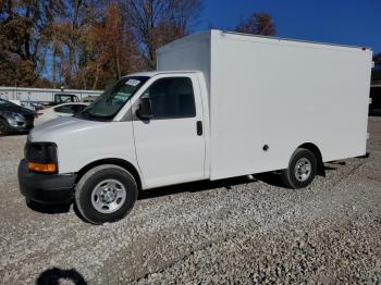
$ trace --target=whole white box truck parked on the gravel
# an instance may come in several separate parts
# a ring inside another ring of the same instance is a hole
[[[366,153],[371,50],[208,30],[157,52],[81,114],[32,131],[27,200],[73,198],[100,224],[138,190],[281,171],[305,187],[323,162]]]

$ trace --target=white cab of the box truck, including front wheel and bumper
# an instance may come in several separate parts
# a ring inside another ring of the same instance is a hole
[[[78,115],[32,131],[21,191],[42,203],[75,195],[90,222],[119,220],[138,189],[208,177],[208,122],[200,72],[125,76]]]

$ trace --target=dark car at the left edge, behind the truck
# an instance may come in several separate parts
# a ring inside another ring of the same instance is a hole
[[[0,98],[0,136],[29,131],[35,115],[34,111]]]

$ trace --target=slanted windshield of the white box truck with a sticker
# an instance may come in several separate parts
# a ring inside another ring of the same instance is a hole
[[[146,76],[123,77],[76,116],[89,120],[111,121],[148,79],[149,77]]]

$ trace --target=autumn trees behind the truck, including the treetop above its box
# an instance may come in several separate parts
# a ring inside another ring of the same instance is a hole
[[[156,49],[189,34],[201,0],[0,0],[0,86],[103,89],[156,67]],[[253,13],[236,32],[274,35]]]

